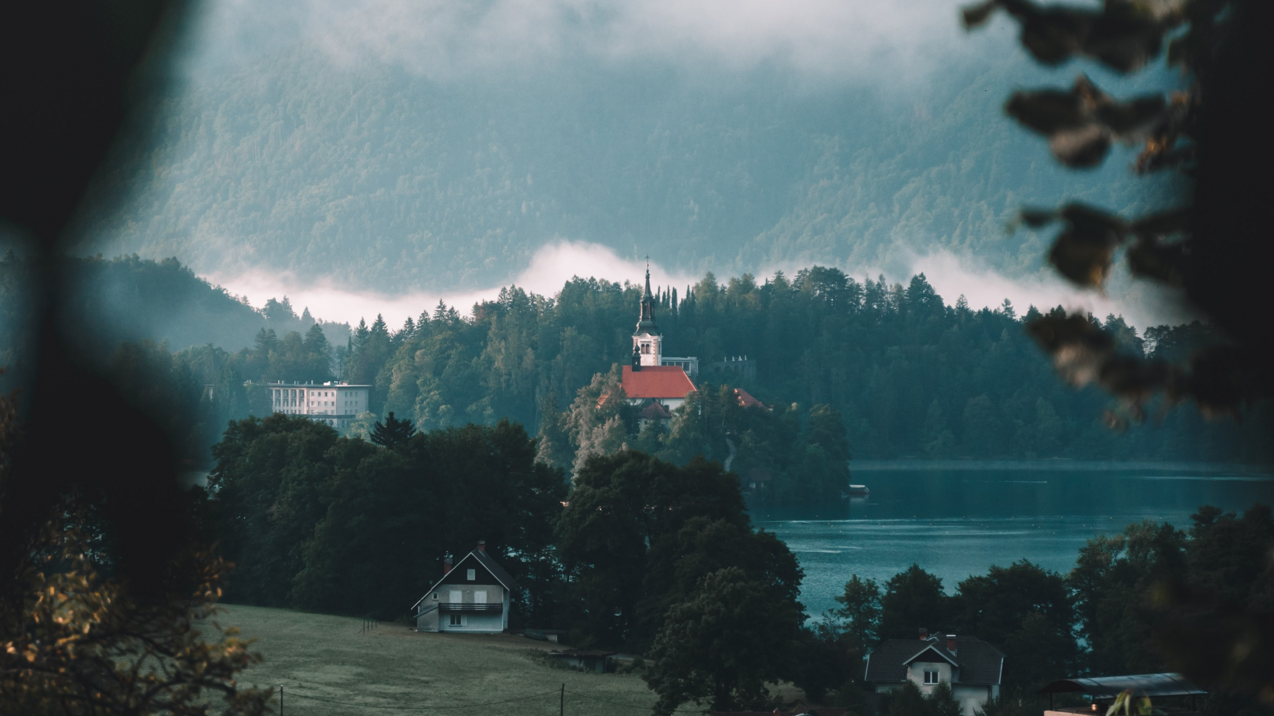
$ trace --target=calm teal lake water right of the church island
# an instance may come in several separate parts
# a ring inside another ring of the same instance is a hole
[[[1242,468],[1154,464],[851,464],[866,498],[791,510],[754,510],[805,569],[812,617],[836,606],[850,575],[884,582],[912,563],[948,594],[991,564],[1029,559],[1069,571],[1084,541],[1130,522],[1190,525],[1200,505],[1242,512],[1274,502],[1274,475]]]

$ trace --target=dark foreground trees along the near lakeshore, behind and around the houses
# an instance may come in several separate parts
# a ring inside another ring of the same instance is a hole
[[[590,456],[568,485],[507,420],[426,432],[381,423],[373,436],[285,415],[231,426],[201,508],[236,563],[229,601],[404,618],[443,558],[482,539],[519,582],[515,628],[566,628],[575,646],[652,657],[645,677],[662,712],[696,698],[764,706],[767,683],[791,680],[812,698],[896,716],[940,705],[869,701],[862,657],[920,627],[1003,651],[1004,697],[987,713],[1017,715],[1068,675],[1217,677],[1209,669],[1227,656],[1206,651],[1206,634],[1241,626],[1201,623],[1163,590],[1274,609],[1269,507],[1204,506],[1189,529],[1145,521],[1094,538],[1066,575],[1022,561],[950,592],[919,564],[884,584],[846,575],[841,606],[806,622],[795,555],[752,525],[719,462],[620,450]],[[1209,713],[1265,712],[1232,694],[1212,703]]]

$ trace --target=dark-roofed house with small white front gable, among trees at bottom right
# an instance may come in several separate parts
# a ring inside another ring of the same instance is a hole
[[[945,682],[964,716],[1000,696],[1004,655],[977,637],[929,636],[919,640],[888,640],[868,655],[865,682],[877,692],[889,692],[911,682],[924,693]]]

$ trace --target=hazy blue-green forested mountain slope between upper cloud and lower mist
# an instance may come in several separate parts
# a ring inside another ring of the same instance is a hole
[[[987,57],[897,92],[613,66],[434,82],[298,45],[155,107],[157,144],[107,180],[141,189],[89,211],[83,246],[378,290],[499,285],[563,238],[699,275],[901,275],[936,248],[1022,274],[1043,246],[1005,237],[1023,203],[1164,200],[1119,154],[1063,172],[1000,112],[1073,71]]]

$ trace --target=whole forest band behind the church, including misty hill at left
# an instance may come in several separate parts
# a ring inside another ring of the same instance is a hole
[[[175,260],[68,266],[88,287],[70,301],[69,321],[84,355],[107,362],[130,395],[163,414],[195,464],[208,464],[228,420],[270,410],[262,382],[333,378],[375,386],[372,413],[358,432],[389,412],[423,429],[508,418],[540,438],[543,460],[568,473],[577,457],[626,443],[679,464],[694,455],[725,461],[734,452],[736,471],[780,478],[831,475],[814,468],[828,455],[1271,457],[1263,440],[1268,405],[1242,422],[1164,405],[1144,424],[1110,429],[1105,415],[1119,405],[1096,389],[1066,386],[1022,330],[1034,308],[1019,316],[1005,302],[975,311],[962,298],[938,296],[924,275],[903,287],[815,266],[790,278],[717,282],[710,274],[691,287],[659,288],[665,350],[699,357],[703,390],[693,410],[715,417],[641,436],[622,405],[581,410],[580,403],[585,394],[600,395],[613,368],[629,358],[634,285],[575,279],[554,297],[508,287],[468,315],[440,304],[396,330],[380,317],[347,329],[308,312],[297,316],[285,298],[256,311]],[[24,262],[10,257],[0,270],[0,307],[14,325]],[[1125,350],[1164,361],[1182,361],[1210,338],[1199,324],[1139,335],[1117,316],[1092,320]],[[9,330],[5,338],[29,340],[29,333]],[[749,372],[721,361],[744,355]],[[721,391],[734,387],[766,408],[744,412],[722,400]],[[819,492],[787,492],[810,489]]]

